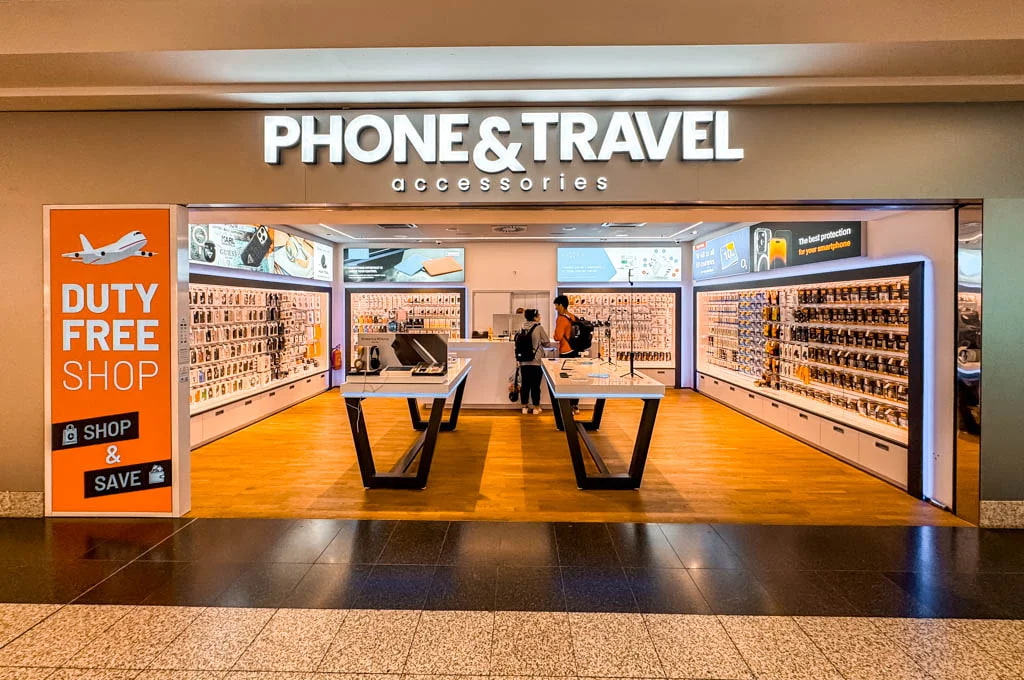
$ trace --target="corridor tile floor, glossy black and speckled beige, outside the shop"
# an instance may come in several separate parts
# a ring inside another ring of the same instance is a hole
[[[0,602],[0,679],[1024,677],[969,527],[10,519]]]

